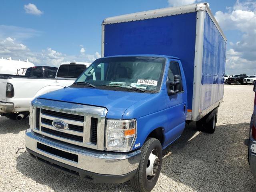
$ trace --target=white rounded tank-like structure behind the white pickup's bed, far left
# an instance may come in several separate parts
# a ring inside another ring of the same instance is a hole
[[[0,58],[0,74],[24,75],[27,68],[34,67],[34,64],[21,60],[12,60],[12,58]]]

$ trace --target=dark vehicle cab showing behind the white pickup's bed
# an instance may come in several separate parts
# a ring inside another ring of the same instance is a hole
[[[58,67],[36,66],[26,70],[25,76],[55,78]]]

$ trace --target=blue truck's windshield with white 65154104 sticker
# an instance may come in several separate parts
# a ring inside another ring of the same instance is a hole
[[[74,84],[86,82],[97,88],[115,86],[123,90],[132,87],[159,90],[165,61],[165,58],[159,57],[100,58],[95,60]]]

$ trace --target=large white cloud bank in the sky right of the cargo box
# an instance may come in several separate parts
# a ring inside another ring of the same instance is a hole
[[[215,18],[221,28],[230,32],[241,32],[237,42],[230,42],[226,54],[226,71],[235,73],[254,72],[256,66],[256,2],[236,1],[227,12],[218,11]],[[235,30],[235,31],[234,31]]]

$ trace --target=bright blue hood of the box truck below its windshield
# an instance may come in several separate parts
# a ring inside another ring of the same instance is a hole
[[[41,95],[39,98],[104,107],[108,110],[106,118],[121,119],[126,109],[149,95],[148,93],[68,87]]]

